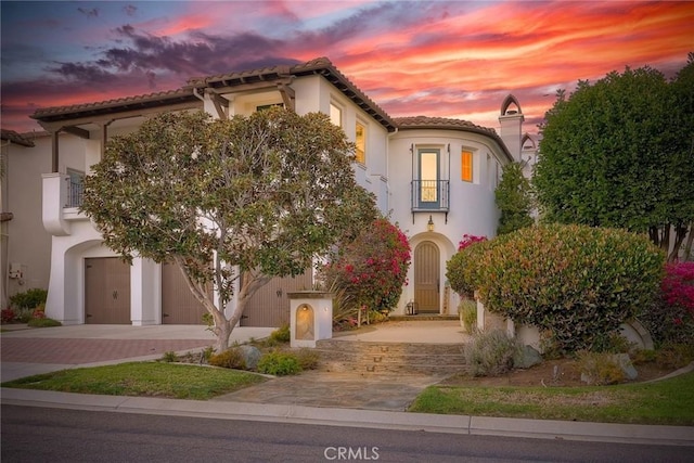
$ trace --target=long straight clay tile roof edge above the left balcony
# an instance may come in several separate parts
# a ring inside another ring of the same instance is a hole
[[[88,115],[108,114],[117,111],[153,107],[183,101],[194,101],[195,99],[196,98],[193,94],[192,89],[183,88],[178,90],[169,90],[134,97],[124,97],[114,100],[92,103],[44,107],[36,110],[30,117],[37,120],[51,121],[65,118],[83,117]]]

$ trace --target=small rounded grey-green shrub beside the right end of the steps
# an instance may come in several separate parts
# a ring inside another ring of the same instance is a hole
[[[473,376],[499,376],[513,369],[520,345],[501,330],[475,334],[465,345],[465,363]]]

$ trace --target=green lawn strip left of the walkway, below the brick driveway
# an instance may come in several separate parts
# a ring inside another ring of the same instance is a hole
[[[2,383],[2,387],[207,400],[264,381],[262,376],[236,370],[130,362],[27,376]]]

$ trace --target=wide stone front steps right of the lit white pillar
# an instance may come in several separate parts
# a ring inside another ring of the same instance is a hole
[[[318,340],[319,370],[362,375],[451,375],[465,371],[463,344]]]

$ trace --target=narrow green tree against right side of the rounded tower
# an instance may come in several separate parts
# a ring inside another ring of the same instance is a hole
[[[501,210],[497,234],[530,227],[535,220],[532,210],[532,189],[523,175],[523,166],[512,163],[503,168],[503,176],[494,191],[497,207]]]

